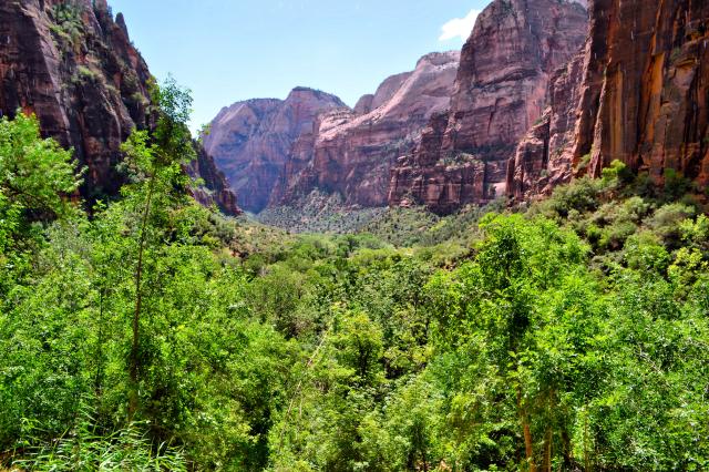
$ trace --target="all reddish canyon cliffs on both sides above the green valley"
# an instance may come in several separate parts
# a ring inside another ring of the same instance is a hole
[[[154,120],[123,16],[105,0],[8,1],[0,39],[0,116],[37,114],[86,168],[81,196],[116,196],[121,144]],[[701,189],[708,43],[707,2],[494,0],[461,52],[422,57],[353,107],[305,86],[224,107],[185,172],[198,202],[230,215],[323,196],[450,214],[542,198],[615,160]]]

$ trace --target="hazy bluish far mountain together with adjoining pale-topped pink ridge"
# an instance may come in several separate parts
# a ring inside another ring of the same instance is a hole
[[[354,109],[338,98],[295,89],[285,101],[225,107],[205,136],[245,209],[292,204],[314,192],[339,194],[348,207],[387,205],[389,170],[445,110],[459,53],[432,53],[411,72],[388,78]]]

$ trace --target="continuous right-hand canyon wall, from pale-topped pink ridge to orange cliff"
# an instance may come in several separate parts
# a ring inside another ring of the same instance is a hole
[[[540,198],[614,160],[706,187],[708,31],[706,2],[495,0],[460,60],[424,57],[354,109],[308,116],[266,205],[319,192],[448,214]]]

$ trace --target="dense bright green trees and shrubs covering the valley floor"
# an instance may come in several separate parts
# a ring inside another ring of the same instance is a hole
[[[153,102],[90,217],[70,153],[0,121],[3,465],[709,468],[709,219],[681,176],[292,235],[188,198],[191,99]]]

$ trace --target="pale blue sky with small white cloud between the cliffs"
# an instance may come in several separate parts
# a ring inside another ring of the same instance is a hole
[[[490,0],[110,0],[163,80],[192,90],[192,127],[295,86],[353,106],[434,51],[460,50]]]

